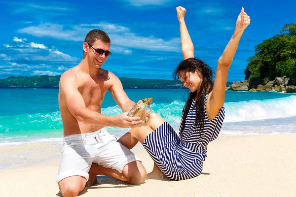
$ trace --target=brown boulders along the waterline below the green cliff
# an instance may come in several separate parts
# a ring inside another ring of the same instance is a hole
[[[277,91],[282,93],[296,93],[296,76],[291,76],[290,79],[288,79],[287,76],[276,77],[273,81],[266,81],[265,84],[259,84],[255,86],[254,83],[251,84],[248,80],[234,81],[230,85],[230,90],[250,92]]]

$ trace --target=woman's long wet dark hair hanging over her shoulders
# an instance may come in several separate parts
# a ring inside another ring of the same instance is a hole
[[[202,62],[201,60],[195,58],[188,58],[179,63],[176,70],[173,73],[173,77],[175,80],[179,80],[179,73],[183,71],[185,74],[189,72],[195,72],[198,69],[202,73],[202,83],[200,84],[199,88],[195,92],[191,92],[189,94],[189,98],[187,99],[184,107],[184,113],[182,117],[182,124],[180,129],[180,136],[182,136],[184,128],[185,128],[185,121],[188,115],[190,105],[192,100],[196,98],[195,108],[196,108],[196,118],[195,118],[195,128],[196,131],[201,134],[204,129],[205,123],[205,115],[204,115],[204,99],[208,93],[213,90],[213,70],[207,64]]]

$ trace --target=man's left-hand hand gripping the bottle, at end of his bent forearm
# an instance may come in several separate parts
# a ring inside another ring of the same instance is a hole
[[[122,114],[115,116],[116,127],[135,128],[141,127],[143,122],[145,123],[145,121],[142,121],[140,117],[130,117],[127,114],[128,112],[124,112]]]

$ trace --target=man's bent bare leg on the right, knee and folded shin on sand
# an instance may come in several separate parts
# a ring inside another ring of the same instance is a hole
[[[119,181],[132,185],[144,183],[147,177],[147,171],[139,161],[126,164],[122,170],[122,173],[115,169],[103,167],[102,165],[93,163],[89,170],[89,186],[95,185],[97,183],[97,175],[99,174],[111,176]]]

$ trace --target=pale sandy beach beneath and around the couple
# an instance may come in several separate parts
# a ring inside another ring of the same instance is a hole
[[[203,174],[185,181],[147,180],[129,185],[106,176],[82,197],[295,197],[296,134],[221,135],[208,146]],[[0,147],[1,163],[21,163],[0,170],[1,197],[62,196],[55,176],[61,146],[24,144]],[[141,145],[133,151],[148,172],[153,163]],[[11,157],[11,153],[15,157]],[[9,154],[8,154],[9,153]],[[19,157],[23,156],[23,157]],[[20,159],[21,158],[21,159]]]

